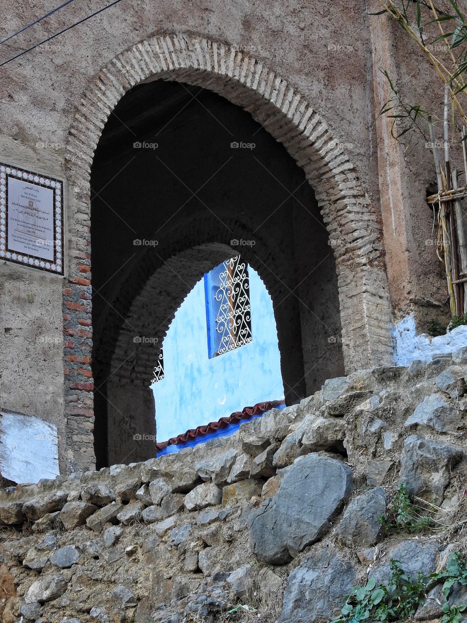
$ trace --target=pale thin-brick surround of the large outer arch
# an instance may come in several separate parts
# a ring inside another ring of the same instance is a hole
[[[80,322],[83,310],[90,309],[90,164],[106,119],[120,98],[137,83],[154,79],[213,90],[247,110],[283,143],[313,186],[334,249],[346,370],[389,363],[390,303],[379,217],[326,121],[284,78],[240,50],[186,35],[152,37],[101,69],[83,94],[70,128],[67,169],[80,197],[69,214],[65,334],[74,341],[75,352],[82,346],[82,366],[69,374],[70,392],[77,384],[92,387],[88,361],[92,333]],[[68,407],[68,419],[92,414],[92,395],[87,398],[88,408]]]

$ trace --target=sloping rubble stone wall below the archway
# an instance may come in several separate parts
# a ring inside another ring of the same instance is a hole
[[[324,623],[390,559],[441,568],[463,549],[466,376],[467,349],[357,371],[231,437],[1,490],[2,623],[241,621],[236,604]],[[432,528],[384,533],[399,483]],[[430,597],[415,618],[440,615]]]

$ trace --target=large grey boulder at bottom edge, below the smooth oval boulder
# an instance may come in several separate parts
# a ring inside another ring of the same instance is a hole
[[[324,548],[292,571],[278,623],[331,621],[356,584],[356,569],[344,556]]]

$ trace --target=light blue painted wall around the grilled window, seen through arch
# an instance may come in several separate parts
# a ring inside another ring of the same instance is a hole
[[[164,378],[151,388],[158,442],[234,411],[284,397],[273,305],[252,267],[253,341],[213,359],[207,353],[204,281],[177,311],[164,339]]]

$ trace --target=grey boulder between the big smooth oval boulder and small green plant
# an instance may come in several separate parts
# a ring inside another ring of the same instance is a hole
[[[382,538],[379,517],[386,512],[386,492],[375,487],[357,496],[347,506],[336,533],[347,545],[375,545]]]

